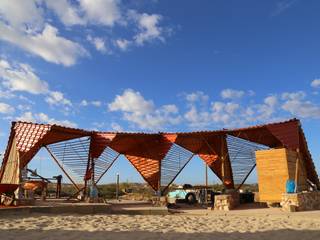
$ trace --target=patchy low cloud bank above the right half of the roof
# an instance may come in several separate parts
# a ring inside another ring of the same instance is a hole
[[[211,102],[210,108],[200,104],[201,100],[198,96],[203,94],[188,94],[184,119],[189,127],[202,129],[204,127],[243,127],[290,117],[320,118],[320,105],[307,100],[307,94],[303,91],[272,94],[265,97],[261,103],[254,99],[249,102],[232,101],[244,93],[239,90],[227,91],[227,94],[221,94],[223,101]]]

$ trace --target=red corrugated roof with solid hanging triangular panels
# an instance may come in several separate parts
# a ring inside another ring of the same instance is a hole
[[[227,134],[269,147],[287,147],[293,150],[300,148],[306,157],[310,180],[319,185],[300,121],[295,118],[238,129],[173,133],[98,132],[55,124],[13,122],[3,165],[7,160],[14,136],[16,136],[18,151],[22,153],[20,157],[25,164],[43,145],[91,136],[90,154],[92,157],[99,157],[106,147],[110,147],[124,154],[143,178],[156,189],[160,177],[159,162],[166,156],[173,143],[198,154],[221,177],[220,157],[223,153],[220,152],[220,148],[223,145],[221,145],[220,138]],[[302,134],[301,137],[300,134]]]

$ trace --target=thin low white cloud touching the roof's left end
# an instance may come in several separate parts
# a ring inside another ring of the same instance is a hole
[[[57,124],[67,127],[77,127],[77,124],[71,122],[69,120],[56,120],[54,118],[50,118],[45,113],[32,113],[30,111],[24,112],[20,117],[17,117],[16,120],[18,121],[26,121],[26,122],[41,122],[41,123],[48,123],[48,124]]]

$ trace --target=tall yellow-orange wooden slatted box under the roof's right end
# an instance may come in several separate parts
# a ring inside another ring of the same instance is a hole
[[[260,202],[281,202],[288,179],[295,180],[297,153],[285,148],[256,151]],[[306,171],[300,159],[298,190],[305,190]]]

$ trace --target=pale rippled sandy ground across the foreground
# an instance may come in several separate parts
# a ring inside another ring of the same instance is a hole
[[[155,215],[11,215],[0,239],[320,239],[320,212]]]

